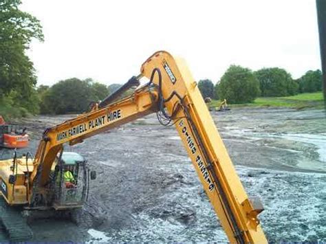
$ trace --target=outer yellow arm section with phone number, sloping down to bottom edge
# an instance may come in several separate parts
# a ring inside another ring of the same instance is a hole
[[[142,74],[149,78],[157,67],[162,73],[164,98],[173,91],[183,98],[181,102],[175,96],[165,105],[170,114],[176,102],[184,106],[174,118],[176,129],[228,239],[231,243],[267,243],[261,226],[257,225],[259,221],[254,216],[248,217],[241,205],[248,196],[186,63],[167,52],[157,52],[142,65]],[[154,82],[159,85],[158,76]]]

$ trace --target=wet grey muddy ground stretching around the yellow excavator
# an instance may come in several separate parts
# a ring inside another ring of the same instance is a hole
[[[232,109],[213,118],[248,195],[259,196],[269,241],[326,241],[323,110]],[[71,118],[23,121],[41,131]],[[227,241],[173,127],[155,115],[67,146],[97,170],[80,224],[31,223],[34,241]]]

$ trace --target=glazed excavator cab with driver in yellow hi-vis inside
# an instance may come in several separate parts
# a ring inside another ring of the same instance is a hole
[[[90,177],[84,157],[78,153],[63,152],[56,157],[51,175],[54,208],[56,210],[81,208],[87,199]]]

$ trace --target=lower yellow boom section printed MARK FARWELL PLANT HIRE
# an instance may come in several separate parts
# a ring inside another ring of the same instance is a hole
[[[153,113],[155,99],[157,99],[155,91],[149,93],[143,88],[114,104],[95,109],[45,130],[36,151],[30,182],[39,190],[47,184],[52,163],[63,148],[63,144],[74,145],[83,142],[88,137]]]

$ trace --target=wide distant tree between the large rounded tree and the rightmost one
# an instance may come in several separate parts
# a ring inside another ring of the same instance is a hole
[[[285,69],[263,68],[254,72],[259,80],[261,96],[281,97],[298,93],[298,84]]]

